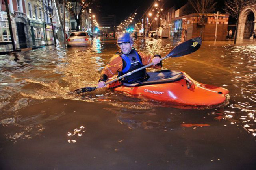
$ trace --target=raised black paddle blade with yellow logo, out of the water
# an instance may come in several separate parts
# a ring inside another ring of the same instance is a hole
[[[169,57],[181,57],[197,51],[202,44],[201,37],[196,37],[185,42],[182,42],[167,55]]]

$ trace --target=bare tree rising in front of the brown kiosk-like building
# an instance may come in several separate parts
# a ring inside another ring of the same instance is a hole
[[[202,24],[200,36],[202,37],[204,30],[204,18],[207,13],[211,13],[215,10],[217,2],[215,2],[215,0],[189,0],[189,3],[200,16],[200,23]]]

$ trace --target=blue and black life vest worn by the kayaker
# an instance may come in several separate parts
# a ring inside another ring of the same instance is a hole
[[[122,72],[119,72],[118,76],[122,76],[128,72],[131,72],[133,70],[136,70],[138,68],[143,67],[141,57],[137,53],[136,50],[132,50],[130,54],[122,54],[122,61],[123,61],[123,68]],[[134,74],[131,74],[130,76],[126,76],[125,82],[126,83],[137,83],[141,81],[147,80],[149,77],[146,73],[146,69],[140,70],[138,72],[135,72]]]

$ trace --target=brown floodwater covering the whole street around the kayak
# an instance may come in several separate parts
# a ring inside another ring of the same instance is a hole
[[[137,39],[148,54],[177,42]],[[163,62],[200,83],[230,91],[217,108],[178,108],[97,89],[115,40],[0,55],[0,169],[255,170],[256,43],[203,42]],[[149,71],[152,69],[148,69]]]

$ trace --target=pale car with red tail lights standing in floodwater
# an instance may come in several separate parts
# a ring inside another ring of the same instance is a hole
[[[67,46],[91,46],[93,39],[87,32],[72,32],[67,39]]]

